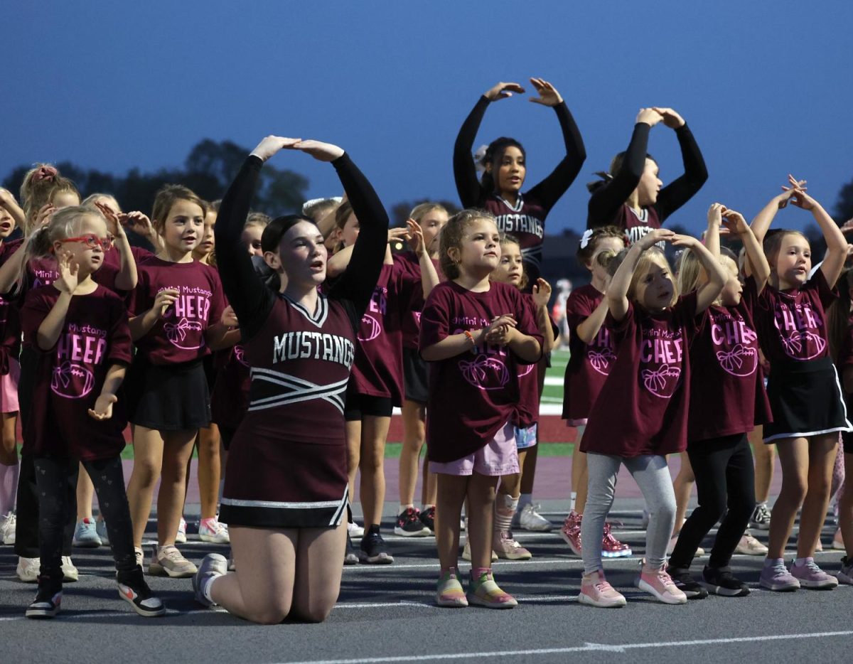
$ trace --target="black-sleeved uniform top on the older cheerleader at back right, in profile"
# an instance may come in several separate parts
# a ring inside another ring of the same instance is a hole
[[[615,225],[625,230],[630,242],[636,242],[651,230],[660,228],[666,218],[693,198],[708,179],[705,160],[693,132],[688,125],[682,125],[676,129],[676,137],[682,150],[684,173],[661,189],[658,201],[653,206],[642,208],[641,215],[631,210],[625,201],[640,183],[646,167],[648,132],[651,129],[645,122],[634,126],[622,168],[589,198],[587,228]]]

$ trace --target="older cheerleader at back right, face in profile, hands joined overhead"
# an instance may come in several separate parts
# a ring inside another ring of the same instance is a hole
[[[684,162],[684,173],[663,188],[658,162],[647,153],[648,133],[659,122],[676,131]],[[640,109],[628,149],[613,157],[610,169],[598,175],[601,180],[587,185],[592,193],[587,228],[616,226],[630,243],[660,228],[708,179],[705,160],[687,123],[672,108],[659,107]]]

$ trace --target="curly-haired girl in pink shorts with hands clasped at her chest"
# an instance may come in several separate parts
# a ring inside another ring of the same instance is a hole
[[[542,335],[518,288],[491,282],[501,259],[495,219],[463,210],[441,231],[449,281],[432,289],[421,314],[421,357],[430,367],[427,453],[438,475],[436,602],[490,609],[516,606],[491,573],[492,511],[502,475],[519,472],[512,418],[519,364],[542,357]],[[467,498],[472,558],[467,597],[456,572],[459,518]]]

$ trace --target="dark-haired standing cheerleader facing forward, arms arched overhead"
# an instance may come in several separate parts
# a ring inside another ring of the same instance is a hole
[[[575,120],[554,85],[543,79],[530,80],[538,93],[530,101],[554,108],[563,132],[566,156],[554,171],[522,193],[527,175],[525,149],[514,138],[500,137],[489,143],[483,157],[485,172],[483,178],[477,179],[477,165],[471,157],[471,149],[485,109],[491,102],[525,91],[517,83],[498,83],[479,98],[462,123],[453,147],[453,173],[462,207],[487,210],[495,216],[498,230],[519,238],[532,287],[541,272],[545,218],[577,178],[586,159],[586,149]]]

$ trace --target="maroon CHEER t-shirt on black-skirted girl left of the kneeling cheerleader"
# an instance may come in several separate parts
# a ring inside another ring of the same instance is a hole
[[[203,358],[209,351],[205,341],[208,327],[222,317],[224,297],[219,273],[197,261],[171,263],[149,255],[136,264],[139,281],[131,293],[128,310],[140,316],[154,306],[161,290],[180,291],[174,304],[136,340],[136,350],[151,364],[177,364]]]

